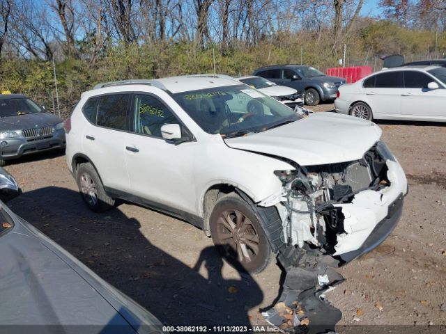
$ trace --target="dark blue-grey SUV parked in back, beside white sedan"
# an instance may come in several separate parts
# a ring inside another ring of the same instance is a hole
[[[298,90],[304,96],[305,104],[309,106],[316,106],[321,101],[334,100],[337,88],[346,84],[346,79],[328,77],[316,68],[306,65],[261,67],[254,71],[254,75]]]

